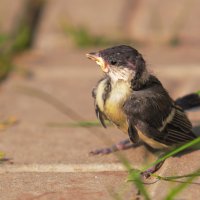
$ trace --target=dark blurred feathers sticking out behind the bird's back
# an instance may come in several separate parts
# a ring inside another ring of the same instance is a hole
[[[183,110],[200,108],[200,91],[187,94],[183,97],[176,99],[176,104],[179,105]]]

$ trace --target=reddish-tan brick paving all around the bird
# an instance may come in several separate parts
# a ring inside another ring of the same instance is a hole
[[[1,33],[15,31],[25,9],[24,2],[2,1]],[[126,182],[128,174],[117,156],[89,155],[91,150],[125,139],[125,135],[114,127],[105,130],[66,126],[80,120],[96,120],[91,90],[101,72],[85,58],[85,53],[95,48],[75,49],[62,26],[70,21],[75,26],[86,26],[91,34],[111,39],[148,39],[147,44],[153,41],[156,45],[136,47],[172,97],[177,98],[200,89],[200,29],[198,20],[194,20],[199,18],[199,2],[191,2],[192,6],[188,5],[189,10],[185,10],[189,11],[185,13],[187,20],[178,30],[183,43],[173,48],[162,44],[173,33],[181,9],[185,9],[185,4],[179,1],[173,4],[155,0],[149,4],[129,0],[118,4],[114,0],[47,1],[33,48],[15,59],[15,64],[32,71],[33,77],[13,73],[0,85],[0,120],[9,117],[17,120],[15,125],[0,129],[0,151],[5,152],[8,159],[0,163],[1,200],[112,200],[119,199],[117,195],[124,200],[142,199],[133,184]],[[155,5],[163,12],[160,32],[152,24],[156,22],[152,21]],[[79,14],[74,14],[77,10]],[[135,46],[135,43],[130,45]],[[194,125],[199,124],[199,112],[188,115]],[[52,123],[57,126],[50,126]],[[199,134],[199,129],[196,132]],[[143,146],[123,151],[122,155],[138,169],[155,160]],[[199,155],[197,149],[169,158],[158,174],[191,173],[200,167]],[[177,184],[179,182],[157,181],[146,187],[152,199],[162,200]],[[199,184],[200,179],[195,179],[177,199],[198,199]]]

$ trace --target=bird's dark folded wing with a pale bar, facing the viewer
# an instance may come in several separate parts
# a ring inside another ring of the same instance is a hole
[[[161,86],[146,91],[134,91],[124,104],[124,112],[130,124],[159,143],[170,146],[195,138],[184,111],[174,106],[174,102]]]

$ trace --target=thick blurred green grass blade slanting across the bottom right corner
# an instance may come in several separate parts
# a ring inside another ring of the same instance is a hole
[[[199,174],[200,169],[198,169],[194,174]],[[192,181],[197,178],[197,176],[189,177],[184,183],[179,184],[175,188],[171,189],[170,192],[165,197],[165,200],[173,200],[181,191],[183,191],[187,186],[189,186]]]

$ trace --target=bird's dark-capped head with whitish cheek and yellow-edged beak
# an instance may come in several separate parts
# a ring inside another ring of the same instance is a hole
[[[86,56],[94,60],[111,79],[133,79],[141,75],[145,69],[142,55],[134,48],[126,45],[114,46]]]

